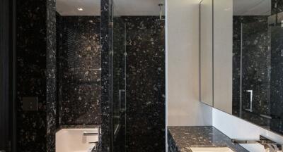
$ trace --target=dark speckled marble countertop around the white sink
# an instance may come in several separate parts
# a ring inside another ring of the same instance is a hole
[[[248,152],[212,126],[168,127],[168,147],[172,152],[192,152],[191,147],[229,147],[235,152]]]

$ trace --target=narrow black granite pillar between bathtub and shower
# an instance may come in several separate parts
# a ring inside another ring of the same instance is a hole
[[[110,63],[112,62],[110,50],[112,50],[112,32],[110,30],[110,18],[112,18],[112,6],[110,0],[101,0],[101,24],[100,24],[100,42],[101,42],[101,145],[100,151],[110,151],[110,128],[112,126],[110,101],[111,92],[111,75]]]

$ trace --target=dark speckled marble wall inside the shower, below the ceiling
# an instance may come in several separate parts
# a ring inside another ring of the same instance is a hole
[[[165,151],[164,32],[164,21],[154,16],[114,20],[114,108],[119,106],[119,89],[126,87],[127,101],[125,114],[120,111],[125,132],[120,136],[126,141],[115,144],[125,144],[126,151]]]

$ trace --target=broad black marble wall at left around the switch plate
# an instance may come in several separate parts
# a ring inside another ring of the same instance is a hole
[[[54,151],[56,125],[55,1],[17,1],[17,151]],[[23,110],[36,96],[37,110]]]

